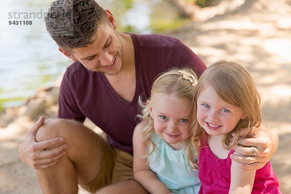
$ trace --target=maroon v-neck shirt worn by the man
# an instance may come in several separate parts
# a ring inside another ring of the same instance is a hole
[[[88,117],[106,134],[110,145],[132,154],[132,133],[139,122],[138,96],[150,96],[154,79],[171,67],[191,66],[199,75],[206,65],[176,38],[130,34],[134,45],[136,89],[132,102],[121,99],[103,73],[88,71],[80,62],[70,65],[59,94],[59,118],[81,122]]]

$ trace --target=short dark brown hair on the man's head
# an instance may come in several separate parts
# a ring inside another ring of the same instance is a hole
[[[105,18],[105,10],[95,0],[55,0],[49,7],[46,27],[58,46],[71,52],[93,44]]]

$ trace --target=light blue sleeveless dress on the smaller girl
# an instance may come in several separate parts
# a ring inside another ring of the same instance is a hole
[[[173,149],[156,133],[153,134],[152,140],[157,149],[149,158],[149,167],[171,194],[198,194],[198,171],[192,170],[185,150]]]

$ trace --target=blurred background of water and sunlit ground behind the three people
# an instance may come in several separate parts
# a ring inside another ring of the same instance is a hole
[[[171,35],[207,65],[224,59],[246,66],[261,95],[263,124],[279,137],[271,163],[280,190],[291,194],[291,0],[96,1],[111,10],[119,31]],[[58,84],[71,64],[46,31],[50,2],[1,2],[0,194],[42,193],[18,146],[41,115],[56,117]],[[9,25],[14,20],[32,25]]]

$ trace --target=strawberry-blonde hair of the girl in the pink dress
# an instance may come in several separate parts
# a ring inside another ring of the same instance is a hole
[[[252,127],[261,125],[261,113],[259,109],[260,97],[255,81],[242,65],[235,62],[218,61],[210,65],[201,75],[195,88],[193,104],[194,107],[194,142],[206,143],[206,132],[197,121],[197,98],[206,87],[212,87],[217,95],[226,103],[242,108],[247,115],[241,119],[236,127],[223,138],[223,147],[230,149],[236,146],[240,140],[250,135]],[[232,137],[234,133],[234,137]],[[201,145],[203,146],[203,145]]]

